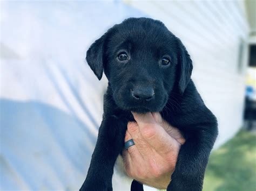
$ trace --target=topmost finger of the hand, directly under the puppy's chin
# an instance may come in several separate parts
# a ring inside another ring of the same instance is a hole
[[[137,114],[132,113],[139,126],[144,140],[159,154],[170,153],[174,146],[177,146],[176,140],[166,133],[164,128],[159,125],[151,113]]]

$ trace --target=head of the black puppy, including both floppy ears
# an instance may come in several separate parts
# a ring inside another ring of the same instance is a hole
[[[100,80],[104,73],[119,108],[161,111],[172,91],[183,94],[192,72],[186,48],[163,23],[129,18],[95,41],[86,61]]]

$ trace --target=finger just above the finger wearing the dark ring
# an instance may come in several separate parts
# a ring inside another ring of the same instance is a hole
[[[142,158],[146,158],[151,155],[151,147],[147,144],[139,131],[139,126],[136,122],[129,122],[127,125],[129,135],[133,139],[137,150],[142,155]]]

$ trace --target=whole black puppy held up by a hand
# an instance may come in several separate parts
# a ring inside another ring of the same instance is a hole
[[[160,112],[178,128],[181,146],[167,190],[203,188],[208,156],[218,134],[217,120],[191,80],[186,48],[163,23],[129,18],[114,25],[87,51],[86,60],[100,80],[109,80],[104,115],[91,165],[80,190],[112,190],[113,166],[124,148],[131,111]],[[133,181],[132,190],[143,190]]]

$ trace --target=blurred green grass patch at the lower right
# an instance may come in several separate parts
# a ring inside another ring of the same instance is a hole
[[[210,155],[204,191],[256,190],[256,135],[240,131]]]

